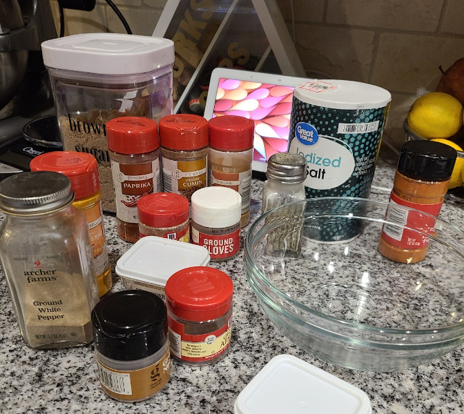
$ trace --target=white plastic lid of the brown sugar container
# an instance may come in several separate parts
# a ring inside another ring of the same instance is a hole
[[[49,68],[99,75],[152,72],[174,63],[174,43],[161,37],[118,33],[86,33],[41,44]]]

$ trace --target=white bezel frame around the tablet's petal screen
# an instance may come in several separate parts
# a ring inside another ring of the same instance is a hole
[[[206,97],[206,105],[204,107],[204,118],[211,119],[218,93],[220,79],[235,79],[238,81],[249,81],[258,83],[269,83],[276,86],[293,86],[296,87],[300,83],[309,81],[309,78],[293,77],[287,75],[279,75],[276,73],[253,72],[251,70],[215,68],[211,72],[209,81],[208,95]],[[253,160],[253,170],[266,172],[267,163]]]

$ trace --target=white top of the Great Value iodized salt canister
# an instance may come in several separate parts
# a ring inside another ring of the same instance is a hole
[[[334,109],[383,108],[392,101],[388,90],[356,81],[313,79],[300,83],[293,96],[315,106]]]

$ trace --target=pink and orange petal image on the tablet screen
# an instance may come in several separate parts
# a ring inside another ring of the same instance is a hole
[[[221,78],[213,117],[238,115],[255,121],[253,161],[287,151],[293,86]]]

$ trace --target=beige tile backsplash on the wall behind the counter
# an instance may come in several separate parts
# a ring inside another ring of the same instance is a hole
[[[265,0],[255,0],[265,1]],[[57,32],[59,9],[50,0]],[[166,0],[113,0],[134,34],[151,35]],[[198,1],[197,1],[198,3]],[[384,143],[398,150],[418,95],[464,57],[462,0],[276,0],[308,77],[373,83],[392,93]],[[65,34],[125,33],[104,0],[64,11]]]

